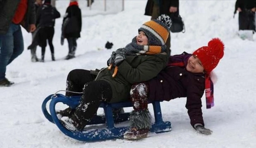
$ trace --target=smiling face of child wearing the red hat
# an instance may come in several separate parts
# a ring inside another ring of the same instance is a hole
[[[204,70],[202,62],[200,61],[199,58],[197,58],[194,55],[189,57],[186,69],[187,69],[187,71],[192,72],[192,73],[202,73]]]

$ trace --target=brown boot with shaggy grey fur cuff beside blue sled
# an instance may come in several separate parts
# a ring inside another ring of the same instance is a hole
[[[151,115],[148,109],[132,111],[130,124],[131,128],[123,134],[124,139],[139,140],[146,138],[151,128]]]

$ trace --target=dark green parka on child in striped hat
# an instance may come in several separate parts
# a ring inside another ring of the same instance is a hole
[[[132,84],[148,81],[164,69],[169,60],[169,54],[163,52],[155,55],[125,56],[118,66],[117,75],[113,78],[114,68],[99,72],[97,80],[110,84],[112,99],[110,103],[128,101]]]

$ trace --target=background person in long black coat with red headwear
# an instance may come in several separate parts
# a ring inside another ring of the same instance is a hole
[[[62,23],[61,45],[63,45],[65,38],[68,40],[68,55],[65,59],[75,57],[77,39],[80,38],[81,27],[81,9],[78,7],[78,2],[76,0],[71,0]]]

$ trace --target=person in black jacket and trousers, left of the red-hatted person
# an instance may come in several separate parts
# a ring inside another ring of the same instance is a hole
[[[51,6],[51,0],[44,0],[44,4],[38,8],[36,13],[36,25],[38,28],[40,27],[38,30],[37,42],[42,48],[41,62],[44,62],[44,53],[47,40],[51,50],[51,60],[55,60],[53,36],[56,18],[60,18],[60,12],[57,11],[55,7]]]

